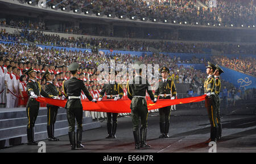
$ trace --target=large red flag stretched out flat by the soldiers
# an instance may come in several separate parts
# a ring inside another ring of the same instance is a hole
[[[175,104],[185,104],[185,103],[194,103],[201,102],[205,100],[206,95],[191,97],[191,98],[183,98],[183,99],[161,99],[158,102],[153,103],[151,101],[147,101],[148,110],[155,110],[158,108],[163,108],[167,106],[172,106]],[[38,102],[45,102],[47,104],[51,104],[54,106],[65,107],[67,100],[57,100],[51,98],[37,98]],[[89,100],[81,100],[83,110],[85,111],[96,111],[96,112],[112,112],[112,113],[130,113],[130,103],[131,100],[117,100],[113,99],[101,100],[100,102],[94,103]]]

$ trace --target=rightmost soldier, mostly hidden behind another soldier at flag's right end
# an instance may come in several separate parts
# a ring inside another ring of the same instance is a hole
[[[221,80],[220,80],[220,74],[224,73],[224,71],[218,66],[217,64],[216,70],[214,72],[214,77],[215,77],[215,94],[217,98],[217,124],[218,124],[218,133],[217,133],[217,140],[221,140],[221,134],[222,134],[222,125],[221,125],[221,120],[220,120],[220,89],[221,89]]]

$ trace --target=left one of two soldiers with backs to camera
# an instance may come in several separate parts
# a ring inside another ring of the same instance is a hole
[[[67,81],[63,81],[63,92],[68,98],[65,108],[67,109],[68,118],[68,136],[71,143],[71,149],[76,150],[84,148],[82,145],[82,103],[81,103],[81,91],[84,92],[86,97],[96,102],[96,99],[92,98],[92,95],[86,89],[84,82],[77,79],[77,69],[79,64],[77,62],[68,66],[68,70],[72,73],[72,77]],[[77,122],[77,142],[75,140],[75,119]]]

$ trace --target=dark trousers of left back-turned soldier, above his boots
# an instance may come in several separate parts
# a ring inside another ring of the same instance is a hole
[[[77,131],[82,129],[82,108],[68,108],[68,132],[75,132],[75,119],[77,122]]]

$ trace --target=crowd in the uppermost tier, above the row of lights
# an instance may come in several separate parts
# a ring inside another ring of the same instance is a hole
[[[238,1],[216,1],[215,7],[209,6],[209,0],[203,0],[204,7],[196,6],[196,0],[152,0],[152,1],[61,1],[53,0],[48,6],[58,5],[70,6],[70,9],[90,10],[94,13],[129,15],[138,18],[171,19],[177,23],[187,21],[188,23],[206,25],[207,23],[222,23],[223,25],[241,26],[241,24],[255,24],[255,2],[253,0]]]

